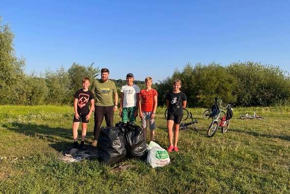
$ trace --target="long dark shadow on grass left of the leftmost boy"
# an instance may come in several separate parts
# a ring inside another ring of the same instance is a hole
[[[11,127],[3,127],[26,136],[51,142],[50,147],[56,151],[63,151],[70,148],[73,142],[72,129],[51,128],[47,125],[23,124],[18,122],[12,123]],[[92,132],[87,132],[87,136],[91,135],[93,135]]]

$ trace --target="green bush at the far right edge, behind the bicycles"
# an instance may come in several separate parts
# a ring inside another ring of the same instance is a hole
[[[232,63],[228,72],[237,78],[235,93],[239,106],[270,106],[290,98],[287,72],[273,65]]]

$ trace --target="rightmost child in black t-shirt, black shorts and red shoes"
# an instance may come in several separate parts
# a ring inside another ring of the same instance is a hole
[[[169,147],[167,151],[178,151],[177,141],[179,134],[179,124],[182,119],[183,108],[186,107],[186,95],[180,91],[181,81],[175,80],[173,83],[173,90],[166,96],[167,113],[167,131]],[[174,130],[174,144],[173,144],[173,126]]]

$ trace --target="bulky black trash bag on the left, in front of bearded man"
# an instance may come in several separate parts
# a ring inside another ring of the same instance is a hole
[[[102,128],[97,141],[99,160],[116,164],[126,157],[124,131],[119,127]]]

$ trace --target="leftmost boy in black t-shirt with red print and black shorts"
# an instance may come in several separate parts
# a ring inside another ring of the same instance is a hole
[[[90,86],[90,79],[83,78],[82,79],[82,89],[77,90],[75,94],[75,101],[74,101],[74,109],[75,109],[75,116],[73,121],[73,137],[74,137],[74,148],[78,148],[77,143],[77,129],[79,122],[81,122],[81,142],[79,148],[81,150],[85,150],[86,147],[84,146],[84,140],[87,133],[87,124],[89,119],[91,118],[91,114],[94,109],[94,94],[93,92],[89,91]],[[89,109],[89,104],[91,108]]]

